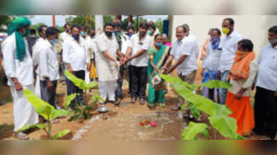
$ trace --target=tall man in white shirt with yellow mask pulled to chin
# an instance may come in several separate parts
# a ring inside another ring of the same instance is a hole
[[[226,18],[222,22],[222,33],[226,35],[222,39],[222,55],[220,57],[220,68],[217,79],[227,82],[229,70],[231,69],[235,52],[238,50],[238,42],[243,39],[242,35],[234,31],[234,21]],[[228,89],[220,89],[220,104],[225,104]]]

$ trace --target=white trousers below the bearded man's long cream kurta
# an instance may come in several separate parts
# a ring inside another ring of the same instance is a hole
[[[116,81],[100,81],[99,91],[100,97],[106,101],[107,97],[111,101],[116,101],[116,95],[114,93]]]

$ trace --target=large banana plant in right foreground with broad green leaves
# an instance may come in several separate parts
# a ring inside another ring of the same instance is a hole
[[[217,104],[216,102],[205,98],[203,95],[193,93],[193,91],[195,91],[196,89],[199,90],[203,86],[210,89],[229,89],[232,86],[231,84],[212,80],[200,86],[195,86],[195,84],[190,85],[188,84],[188,82],[184,82],[180,78],[174,78],[172,76],[162,74],[159,76],[163,78],[163,80],[166,80],[166,82],[170,82],[175,90],[179,93],[179,95],[181,95],[183,98],[186,98],[187,102],[194,105],[193,107],[207,113],[210,116],[208,117],[210,124],[217,131],[219,131],[222,136],[231,139],[245,139],[244,137],[236,133],[238,129],[237,121],[235,120],[235,118],[229,117],[232,112],[228,107],[226,107],[226,105]],[[189,104],[185,104],[185,106],[188,105]],[[205,138],[208,138],[208,136],[206,136],[207,131],[205,130],[207,129],[207,127],[208,126],[205,126],[202,123],[190,122],[188,129],[184,130],[183,139],[193,140],[195,139],[195,136],[197,136],[197,134],[202,134]],[[214,138],[216,138],[216,132],[214,133]]]

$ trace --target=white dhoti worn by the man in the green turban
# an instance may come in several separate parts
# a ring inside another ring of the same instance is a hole
[[[34,85],[23,86],[24,89],[29,89],[34,92]],[[24,91],[16,91],[15,86],[10,86],[13,100],[13,116],[15,129],[17,131],[25,125],[35,125],[39,122],[39,116],[30,102],[24,95]]]

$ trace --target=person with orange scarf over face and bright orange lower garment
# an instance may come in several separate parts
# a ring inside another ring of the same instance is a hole
[[[229,80],[233,84],[226,98],[226,105],[231,109],[230,117],[237,120],[237,133],[249,136],[253,129],[254,115],[250,104],[251,86],[258,72],[258,64],[253,52],[253,44],[249,39],[238,42],[233,66],[229,71]]]

